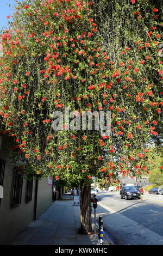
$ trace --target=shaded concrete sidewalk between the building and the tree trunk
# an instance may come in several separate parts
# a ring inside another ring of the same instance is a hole
[[[8,245],[98,245],[98,235],[78,234],[79,228],[80,206],[73,205],[73,196],[69,194],[53,202]],[[93,215],[92,228],[94,229]],[[104,234],[103,245],[109,245],[109,242]]]

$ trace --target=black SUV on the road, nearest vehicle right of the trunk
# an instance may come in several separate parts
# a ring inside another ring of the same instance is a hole
[[[121,199],[125,198],[126,200],[131,198],[140,199],[140,192],[135,187],[124,186],[121,188],[120,196]]]

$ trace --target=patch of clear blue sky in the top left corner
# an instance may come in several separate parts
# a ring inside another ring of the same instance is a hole
[[[7,4],[11,5],[9,7]],[[13,5],[15,4],[14,0],[0,0],[0,29],[5,28],[7,26],[7,18],[6,16],[13,12]]]

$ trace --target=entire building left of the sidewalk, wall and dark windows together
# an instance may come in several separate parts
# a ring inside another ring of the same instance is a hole
[[[0,133],[0,245],[7,245],[52,205],[53,186],[48,179],[23,178],[9,157],[11,143],[11,138]]]

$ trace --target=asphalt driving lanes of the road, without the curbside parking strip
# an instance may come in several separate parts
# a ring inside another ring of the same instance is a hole
[[[125,200],[120,198],[119,192],[98,192],[99,205],[105,205],[106,209],[128,217],[163,238],[163,195],[145,193],[142,198],[142,202],[140,199]]]

